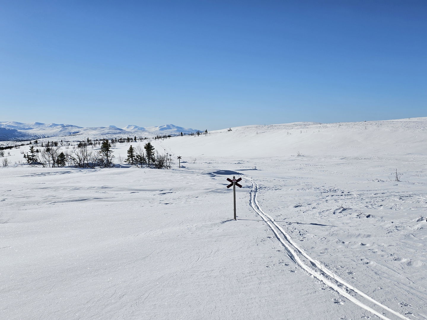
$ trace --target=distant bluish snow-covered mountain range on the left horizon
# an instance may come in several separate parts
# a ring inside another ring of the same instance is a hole
[[[47,137],[85,136],[91,138],[110,136],[133,136],[152,137],[156,135],[178,135],[190,134],[198,130],[182,128],[176,125],[160,125],[153,127],[139,127],[127,125],[117,128],[114,125],[108,127],[79,127],[77,125],[66,125],[56,123],[22,123],[15,121],[0,122],[0,141],[32,140]]]

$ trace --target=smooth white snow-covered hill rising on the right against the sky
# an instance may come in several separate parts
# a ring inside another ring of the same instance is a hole
[[[295,122],[211,131],[168,140],[193,156],[263,158],[296,155],[427,154],[427,117],[368,122]],[[192,139],[193,138],[193,139]]]

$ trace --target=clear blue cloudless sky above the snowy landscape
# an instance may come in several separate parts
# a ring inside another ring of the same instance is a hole
[[[425,0],[0,0],[0,121],[427,116]]]

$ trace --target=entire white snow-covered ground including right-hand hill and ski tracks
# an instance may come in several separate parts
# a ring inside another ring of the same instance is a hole
[[[427,118],[232,129],[152,141],[170,170],[9,150],[1,318],[427,319]]]

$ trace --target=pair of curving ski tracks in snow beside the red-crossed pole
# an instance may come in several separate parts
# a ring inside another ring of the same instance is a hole
[[[336,292],[341,294],[343,297],[350,300],[352,303],[360,306],[361,308],[365,309],[366,311],[369,311],[369,312],[375,314],[377,317],[380,317],[383,320],[391,320],[390,318],[384,316],[380,312],[375,311],[374,309],[372,309],[368,305],[365,305],[360,300],[357,300],[355,297],[353,297],[351,294],[349,294],[348,291],[353,291],[353,292],[359,294],[361,297],[365,298],[366,300],[369,300],[371,303],[374,303],[375,305],[383,308],[385,311],[389,311],[390,313],[394,314],[395,316],[397,316],[401,319],[411,320],[408,317],[405,317],[404,315],[398,313],[397,311],[390,309],[386,305],[379,303],[378,301],[374,300],[372,297],[369,297],[367,294],[358,290],[357,288],[354,288],[352,285],[350,285],[344,279],[341,279],[339,276],[337,276],[335,273],[330,271],[328,268],[325,268],[319,261],[311,258],[304,250],[302,250],[298,246],[298,244],[296,244],[291,239],[289,234],[286,231],[284,231],[283,228],[280,227],[270,215],[263,212],[263,210],[261,209],[261,207],[257,201],[257,191],[258,191],[257,183],[251,178],[244,177],[244,176],[242,176],[242,177],[244,179],[247,179],[247,180],[252,182],[252,189],[251,189],[250,198],[249,198],[249,205],[266,222],[266,224],[268,224],[268,226],[273,231],[273,233],[275,234],[277,239],[284,245],[290,259],[292,259],[295,263],[297,263],[305,271],[307,271],[311,275],[315,276],[316,279],[319,279],[320,281],[325,283],[325,285],[328,285],[328,287],[332,288],[333,290],[335,290]],[[312,268],[310,268],[309,265],[304,263],[298,254],[303,256],[308,261],[310,261],[310,265]],[[337,283],[334,283],[332,280],[328,279],[327,276],[334,279]]]

